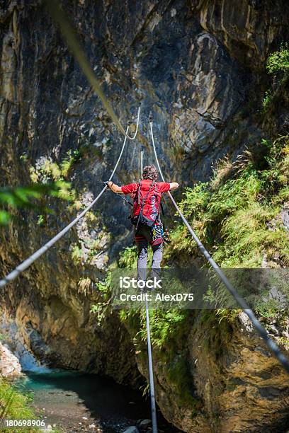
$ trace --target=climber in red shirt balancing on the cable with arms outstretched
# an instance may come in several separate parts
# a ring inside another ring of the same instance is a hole
[[[158,177],[155,166],[146,166],[142,171],[139,183],[118,186],[113,182],[106,183],[117,194],[130,194],[133,199],[131,221],[135,226],[135,243],[137,244],[138,275],[145,275],[147,267],[147,248],[152,246],[152,270],[159,270],[163,250],[163,226],[159,218],[159,207],[164,192],[176,190],[179,183],[156,182]],[[144,278],[145,279],[145,278]]]

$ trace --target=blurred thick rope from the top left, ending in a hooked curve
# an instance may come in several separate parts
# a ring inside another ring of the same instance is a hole
[[[120,124],[117,115],[115,115],[115,112],[111,107],[111,104],[108,102],[106,95],[103,93],[101,89],[101,84],[96,78],[96,74],[94,73],[94,70],[91,68],[89,59],[87,58],[83,48],[81,47],[81,44],[77,40],[77,37],[75,35],[75,30],[72,27],[72,25],[69,23],[67,19],[67,15],[65,15],[64,11],[60,7],[60,1],[45,0],[45,4],[52,18],[60,25],[60,29],[62,31],[64,40],[66,40],[67,45],[72,51],[72,54],[74,54],[74,57],[77,59],[77,62],[79,63],[79,66],[84,72],[84,75],[88,79],[89,83],[91,84],[91,87],[94,89],[98,97],[101,99],[104,108],[106,108],[108,114],[111,116],[111,119],[113,120],[115,126],[118,127],[120,132],[124,134],[125,137],[127,137],[127,139],[134,140],[135,137],[137,137],[137,129],[140,122],[140,108],[138,109],[138,113],[137,113],[137,129],[135,131],[135,134],[132,137],[130,137],[127,134],[127,132],[125,132],[125,129],[123,129],[123,126]]]

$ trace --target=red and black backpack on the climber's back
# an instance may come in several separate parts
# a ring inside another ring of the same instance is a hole
[[[162,193],[159,192],[157,183],[152,180],[150,185],[139,182],[136,192],[133,194],[132,224],[138,227],[140,223],[152,227],[159,216],[159,204]],[[136,227],[136,229],[137,229]]]

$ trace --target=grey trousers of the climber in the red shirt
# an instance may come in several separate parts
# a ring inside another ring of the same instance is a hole
[[[152,245],[152,231],[149,227],[140,224],[137,229],[137,236],[140,236],[142,239],[136,241],[138,257],[137,257],[137,273],[139,277],[145,279],[145,271],[147,268],[147,248],[150,244],[152,247],[152,270],[158,273],[161,268],[162,262],[162,253],[163,253],[163,241],[162,238],[159,239],[159,243]]]

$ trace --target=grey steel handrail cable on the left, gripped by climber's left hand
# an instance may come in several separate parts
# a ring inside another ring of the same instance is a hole
[[[138,127],[138,125],[137,125],[137,127]],[[118,168],[120,158],[123,156],[125,144],[126,144],[127,139],[128,139],[128,135],[127,135],[128,129],[129,129],[129,126],[126,129],[125,139],[123,141],[123,147],[120,151],[120,155],[118,156],[118,161],[116,162],[115,167],[113,168],[113,172],[111,173],[109,180],[111,180],[113,178],[113,175],[115,174],[115,171]],[[62,229],[62,231],[57,233],[57,235],[54,236],[54,238],[50,239],[50,241],[45,243],[44,246],[42,246],[41,248],[39,248],[39,250],[35,251],[35,253],[30,255],[30,257],[28,257],[26,260],[24,260],[12,272],[10,272],[8,275],[6,275],[6,277],[4,277],[3,279],[0,279],[0,287],[4,287],[8,282],[11,282],[13,279],[15,279],[21,272],[26,270],[30,265],[33,264],[33,262],[35,262],[35,260],[40,258],[40,256],[42,254],[46,253],[47,250],[49,250],[57,241],[59,241],[62,238],[62,236],[64,236],[73,226],[75,226],[75,224],[77,224],[77,222],[81,218],[84,217],[86,212],[89,212],[89,209],[91,209],[91,207],[93,207],[94,204],[96,204],[96,202],[101,198],[101,196],[103,195],[103,192],[105,192],[106,188],[107,188],[107,186],[103,187],[103,189],[101,190],[101,192],[99,192],[98,196],[94,199],[94,201],[91,202],[91,204],[89,204],[89,206],[87,206],[86,209],[84,209],[84,211],[81,212],[81,214],[79,214],[79,216],[77,218],[75,218],[70,224],[68,224],[66,227],[64,227],[64,229]]]

